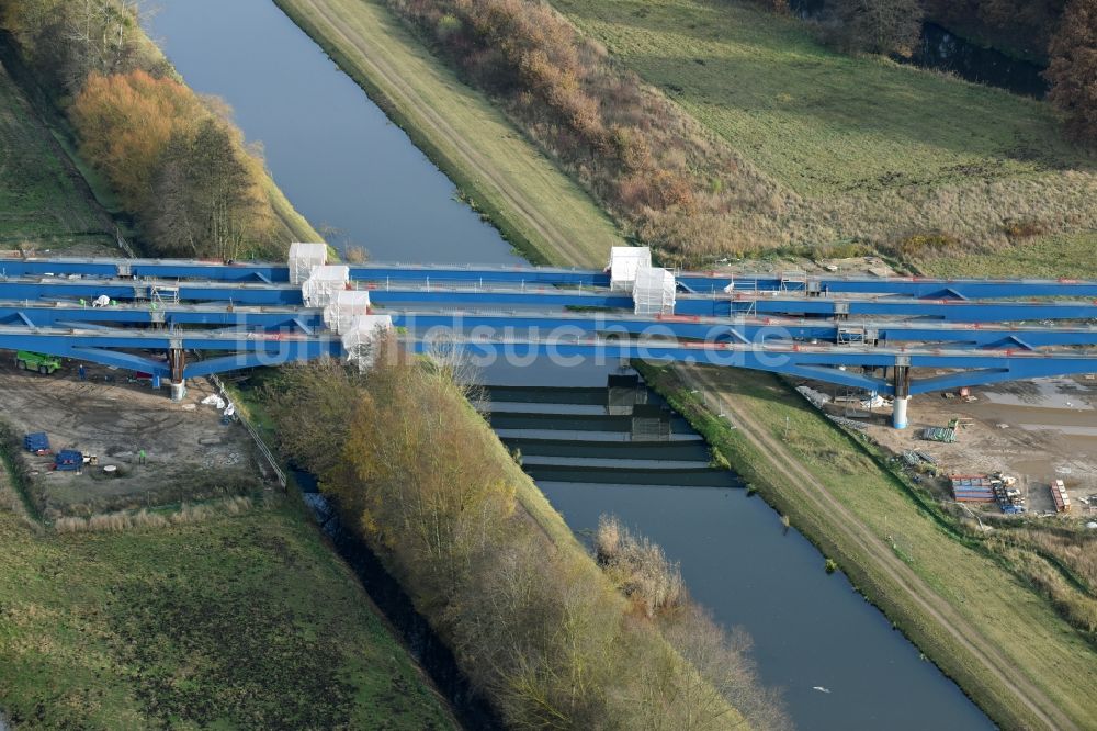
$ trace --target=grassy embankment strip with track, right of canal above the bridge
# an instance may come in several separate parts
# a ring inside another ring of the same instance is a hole
[[[535,262],[601,266],[609,217],[378,0],[275,0]],[[475,140],[475,144],[470,144]]]

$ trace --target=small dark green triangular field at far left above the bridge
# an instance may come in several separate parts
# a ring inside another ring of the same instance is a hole
[[[23,243],[86,251],[114,244],[49,131],[0,66],[0,248]]]

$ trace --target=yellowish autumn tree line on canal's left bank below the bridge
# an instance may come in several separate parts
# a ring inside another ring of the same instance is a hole
[[[282,449],[319,476],[508,728],[787,727],[743,636],[686,601],[680,577],[674,596],[660,588],[675,584],[660,552],[619,530],[599,569],[558,516],[548,526],[525,509],[535,487],[451,372],[395,348],[366,375],[283,369],[265,398]]]

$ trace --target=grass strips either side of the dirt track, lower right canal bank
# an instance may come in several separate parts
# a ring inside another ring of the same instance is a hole
[[[901,576],[883,571],[877,556],[851,540],[848,524],[819,509],[811,486],[790,480],[778,463],[782,456],[759,450],[739,429],[728,428],[690,394],[695,382],[672,371],[645,369],[649,383],[705,435],[744,477],[789,515],[792,524],[837,560],[853,584],[895,622],[934,662],[954,678],[1006,728],[1039,724],[1018,702],[1020,688],[1004,686],[964,644],[927,616]],[[780,440],[827,492],[959,612],[1078,728],[1097,723],[1086,688],[1097,687],[1094,649],[1053,607],[996,560],[979,539],[942,519],[928,495],[919,495],[881,468],[850,437],[805,408],[802,398],[772,376],[706,369],[716,391],[736,409]],[[788,421],[787,421],[788,419]],[[785,436],[787,425],[791,428]],[[970,639],[970,637],[968,638]],[[1068,677],[1070,683],[1059,678]]]

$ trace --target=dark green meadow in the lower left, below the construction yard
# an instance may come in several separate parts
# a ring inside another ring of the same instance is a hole
[[[456,728],[285,498],[102,533],[0,509],[0,709],[26,729]]]

